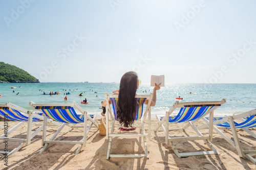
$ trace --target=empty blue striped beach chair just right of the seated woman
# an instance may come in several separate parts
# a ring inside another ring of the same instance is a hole
[[[160,131],[159,128],[162,127],[165,133],[165,142],[166,144],[170,143],[173,148],[175,154],[181,157],[189,157],[189,156],[198,156],[198,155],[209,155],[209,154],[219,154],[219,152],[212,147],[209,141],[212,141],[212,128],[213,128],[213,117],[214,110],[226,103],[224,99],[221,101],[212,101],[212,102],[186,102],[179,103],[176,101],[174,105],[166,111],[165,115],[156,115],[159,125],[154,129],[155,131]],[[178,115],[170,116],[174,112],[175,109],[180,108]],[[210,126],[209,126],[209,135],[204,136],[194,125],[199,119],[206,115],[210,115]],[[169,123],[187,123],[183,128],[169,129]],[[187,137],[170,137],[169,131],[173,130],[185,130],[186,128],[193,128],[199,136],[187,136]],[[211,151],[201,151],[201,152],[187,152],[187,153],[179,153],[176,149],[173,142],[179,141],[193,141],[193,140],[203,140]]]

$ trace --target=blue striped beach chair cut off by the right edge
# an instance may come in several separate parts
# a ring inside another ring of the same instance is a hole
[[[199,129],[208,128],[209,119],[204,118],[204,121],[207,125],[203,125],[199,127]],[[256,154],[256,150],[253,151],[244,151],[241,147],[241,142],[238,137],[238,133],[236,129],[243,129],[245,132],[249,133],[251,136],[256,138],[256,134],[253,133],[248,128],[256,127],[256,109],[236,114],[233,116],[227,117],[214,117],[214,125],[217,125],[220,128],[231,129],[233,140],[231,140],[228,136],[226,136],[217,126],[214,126],[214,130],[220,134],[228,143],[232,145],[232,147],[236,148],[240,157],[245,157],[250,160],[252,163],[256,164],[256,159],[253,158],[249,154]]]

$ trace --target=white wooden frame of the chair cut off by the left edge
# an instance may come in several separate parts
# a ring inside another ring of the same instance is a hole
[[[6,103],[5,105],[0,105],[0,107],[9,107],[9,108],[12,108],[12,109],[15,109],[15,110],[19,111],[20,113],[24,114],[25,116],[28,116],[28,122],[20,122],[19,124],[17,124],[13,128],[11,128],[10,130],[8,129],[8,132],[7,132],[7,135],[9,135],[13,131],[15,131],[17,128],[19,128],[20,126],[27,123],[28,124],[28,129],[27,129],[26,139],[10,138],[10,137],[6,137],[6,134],[3,134],[3,135],[0,136],[0,140],[21,142],[18,145],[18,147],[13,149],[11,152],[2,152],[2,151],[0,151],[0,154],[6,154],[7,153],[7,155],[10,156],[13,153],[17,152],[19,149],[21,149],[25,144],[30,144],[31,139],[42,130],[42,125],[38,125],[37,123],[32,122],[32,118],[36,117],[36,118],[39,118],[39,119],[43,120],[44,116],[38,115],[38,114],[36,114],[35,112],[33,112],[31,110],[24,109],[22,107],[16,106],[16,105],[11,104],[11,103]],[[50,120],[48,122],[52,123],[55,126],[60,126],[60,124],[58,124],[56,122],[52,122]],[[32,133],[32,125],[39,126],[39,128],[34,133]]]

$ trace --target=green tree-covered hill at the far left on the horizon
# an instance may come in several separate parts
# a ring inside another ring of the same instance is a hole
[[[0,62],[0,83],[40,83],[27,71],[14,65]]]

